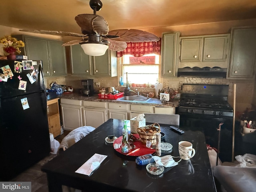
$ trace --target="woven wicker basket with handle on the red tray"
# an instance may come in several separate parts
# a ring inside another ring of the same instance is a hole
[[[157,125],[158,128],[156,128],[154,125]],[[152,145],[155,145],[156,134],[160,132],[161,132],[160,125],[158,123],[153,123],[153,124],[138,128],[138,134],[140,135],[140,140],[142,143],[145,143],[145,144],[147,141],[150,141]]]

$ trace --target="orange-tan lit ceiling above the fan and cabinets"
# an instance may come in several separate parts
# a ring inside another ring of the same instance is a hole
[[[81,33],[74,20],[90,0],[1,0],[0,25]],[[152,29],[256,18],[256,0],[101,0],[110,30]]]

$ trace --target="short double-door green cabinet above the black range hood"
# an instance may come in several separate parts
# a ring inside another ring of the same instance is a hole
[[[230,34],[180,37],[179,68],[227,68],[229,39]]]

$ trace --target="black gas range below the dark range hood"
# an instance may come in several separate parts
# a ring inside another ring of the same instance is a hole
[[[228,85],[183,84],[177,114],[180,126],[202,128],[206,144],[217,148],[220,123],[220,154],[222,161],[232,161],[233,108],[228,103]]]

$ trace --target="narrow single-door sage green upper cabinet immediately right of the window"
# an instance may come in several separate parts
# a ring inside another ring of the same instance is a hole
[[[161,48],[162,76],[175,76],[178,70],[178,39],[180,32],[163,33]]]

